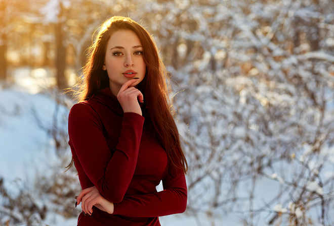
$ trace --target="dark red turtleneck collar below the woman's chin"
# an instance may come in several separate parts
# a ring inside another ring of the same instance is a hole
[[[92,99],[96,99],[100,103],[106,105],[117,115],[122,116],[124,114],[122,106],[118,102],[117,97],[111,92],[109,87],[100,89],[97,93],[93,95]]]

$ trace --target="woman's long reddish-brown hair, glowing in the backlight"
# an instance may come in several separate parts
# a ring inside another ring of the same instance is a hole
[[[111,34],[121,29],[134,31],[142,43],[146,74],[138,87],[144,95],[157,139],[165,149],[170,162],[186,173],[188,164],[181,148],[179,132],[172,115],[172,101],[168,95],[169,76],[159,57],[153,37],[137,22],[127,17],[115,16],[99,27],[96,40],[89,48],[89,57],[83,70],[84,79],[78,86],[76,99],[89,100],[98,90],[109,86],[107,71],[103,71],[102,66]]]

